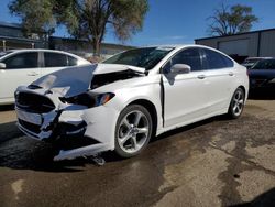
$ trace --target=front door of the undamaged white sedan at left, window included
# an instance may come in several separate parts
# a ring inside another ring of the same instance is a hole
[[[15,53],[1,63],[6,64],[6,68],[0,69],[0,101],[13,102],[18,86],[28,86],[40,77],[38,53]]]

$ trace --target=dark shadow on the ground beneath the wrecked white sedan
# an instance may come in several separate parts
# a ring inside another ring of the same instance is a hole
[[[208,124],[215,120],[226,119],[227,118],[224,116],[219,116],[194,124],[189,124],[187,127],[177,128],[169,132],[165,132],[157,138],[153,138],[151,142],[164,140],[174,134],[182,133],[204,124]],[[13,124],[14,123],[7,123],[7,128]],[[2,124],[0,126],[0,130],[1,129]],[[0,166],[14,170],[33,170],[43,172],[79,172],[85,171],[84,167],[86,165],[95,165],[95,162],[92,162],[91,159],[87,160],[84,157],[54,162],[53,157],[56,151],[53,145],[42,141],[28,139],[25,137],[10,140],[11,138],[14,138],[14,135],[22,135],[22,133],[14,129],[14,127],[11,127],[10,131],[11,133],[7,134],[6,137],[6,142],[0,142]],[[6,151],[2,149],[6,149]],[[114,152],[105,152],[101,154],[101,156],[106,160],[107,163],[113,163],[123,160],[116,155]]]

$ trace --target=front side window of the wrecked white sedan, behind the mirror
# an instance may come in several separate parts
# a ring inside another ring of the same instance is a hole
[[[170,67],[175,64],[186,64],[191,67],[191,72],[202,69],[200,48],[186,48],[177,53],[169,62],[163,67],[164,73],[168,73]]]

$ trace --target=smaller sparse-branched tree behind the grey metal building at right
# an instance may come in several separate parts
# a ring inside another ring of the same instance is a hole
[[[251,7],[241,4],[231,8],[222,4],[208,19],[212,21],[208,29],[210,35],[220,36],[249,32],[252,24],[258,21],[257,17],[252,13]]]

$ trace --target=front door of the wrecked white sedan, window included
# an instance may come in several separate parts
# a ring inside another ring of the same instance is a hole
[[[188,74],[172,74],[175,64],[191,67]],[[199,47],[189,47],[178,52],[163,67],[164,86],[164,126],[180,126],[204,118],[207,115],[207,94]]]

